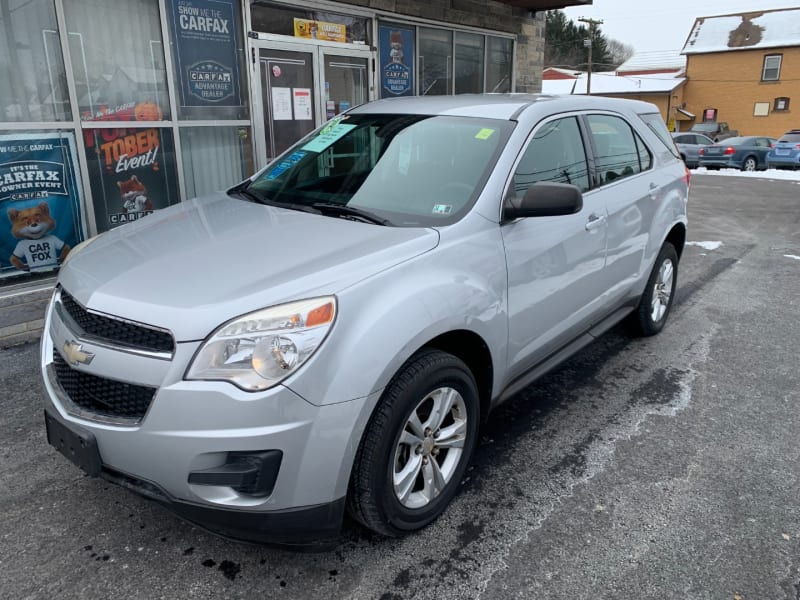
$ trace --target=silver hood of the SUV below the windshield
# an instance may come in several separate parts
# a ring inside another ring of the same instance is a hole
[[[59,283],[87,308],[205,338],[241,314],[335,294],[435,248],[434,229],[382,227],[225,194],[105,233],[68,258]]]

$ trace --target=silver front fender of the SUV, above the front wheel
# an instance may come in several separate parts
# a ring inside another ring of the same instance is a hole
[[[494,225],[453,243],[443,240],[341,292],[329,338],[285,385],[313,404],[364,398],[386,387],[427,342],[456,330],[480,336],[493,363],[505,365],[507,284],[499,235]]]

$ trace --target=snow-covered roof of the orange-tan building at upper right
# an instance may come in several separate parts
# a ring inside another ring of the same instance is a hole
[[[800,8],[699,17],[682,54],[800,46]]]

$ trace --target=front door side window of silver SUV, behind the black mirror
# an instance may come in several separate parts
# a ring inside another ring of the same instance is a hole
[[[582,192],[589,189],[586,150],[575,117],[545,123],[525,149],[514,172],[514,193],[524,196],[537,181],[570,183]]]

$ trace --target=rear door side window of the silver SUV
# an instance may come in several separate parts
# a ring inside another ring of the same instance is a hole
[[[597,153],[601,185],[651,167],[650,150],[624,119],[611,115],[587,115],[586,118]]]

